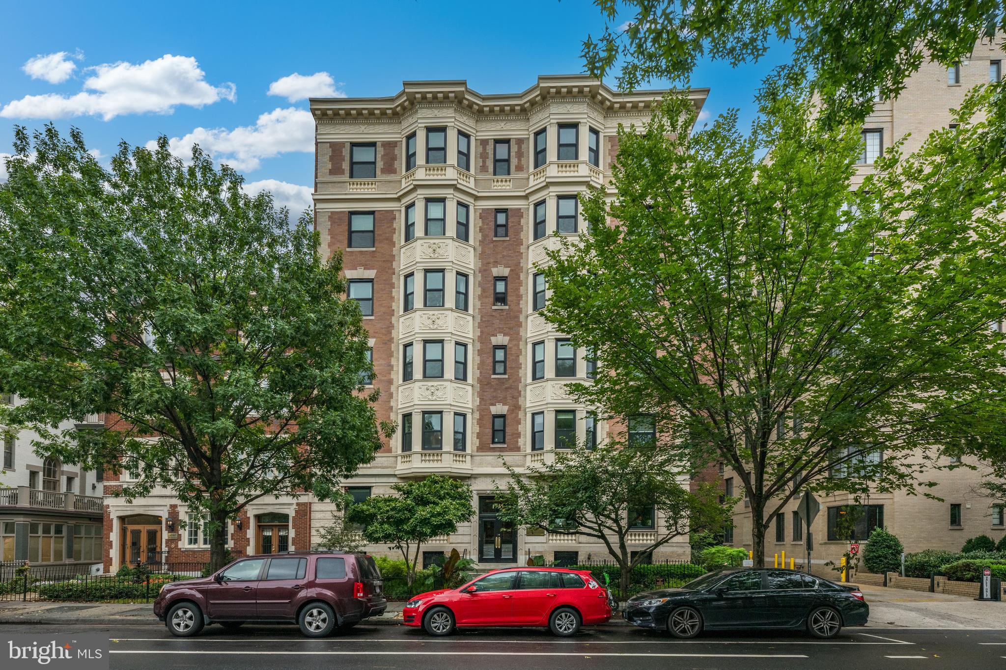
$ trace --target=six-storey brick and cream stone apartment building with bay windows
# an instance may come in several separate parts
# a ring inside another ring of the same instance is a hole
[[[691,92],[696,109],[706,92]],[[575,534],[508,527],[492,492],[504,463],[523,471],[566,436],[600,442],[610,430],[565,390],[592,364],[536,313],[547,295],[536,267],[553,232],[585,232],[576,196],[608,184],[619,125],[645,123],[662,93],[563,75],[519,93],[406,81],[388,97],[311,100],[316,227],[366,314],[378,418],[398,424],[345,484],[362,498],[431,473],[468,481],[477,517],[428,550],[485,565],[607,556]],[[314,503],[315,532],[331,511]],[[631,537],[640,547],[655,534],[650,515]],[[658,557],[687,555],[683,538]]]

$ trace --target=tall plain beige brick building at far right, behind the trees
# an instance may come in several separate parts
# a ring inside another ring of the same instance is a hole
[[[854,185],[858,186],[862,177],[873,170],[870,163],[877,153],[893,142],[908,136],[903,148],[908,154],[919,149],[932,131],[951,125],[951,110],[960,106],[967,91],[975,85],[999,80],[1003,76],[1004,62],[1006,51],[1002,40],[998,40],[996,44],[977,44],[971,58],[954,68],[925,63],[907,80],[896,99],[877,102],[873,114],[867,117],[863,130],[863,163],[857,170]],[[949,458],[945,460],[950,464]],[[978,465],[977,461],[968,458],[964,459],[964,464]],[[905,551],[909,552],[927,548],[960,550],[966,539],[983,533],[998,541],[1006,533],[1006,525],[1002,507],[994,505],[994,501],[982,493],[981,483],[986,476],[988,470],[981,467],[978,470],[960,467],[928,472],[926,478],[938,485],[926,489],[927,492],[943,498],[944,502],[924,497],[921,491],[918,495],[873,493],[866,496],[862,500],[867,508],[862,515],[860,532],[865,534],[873,525],[882,525],[897,535]],[[722,479],[728,495],[742,492],[740,480],[729,468]],[[848,494],[817,497],[821,511],[811,527],[815,566],[837,561],[848,549],[848,541],[835,538],[834,523],[840,507],[854,503],[853,496]],[[792,500],[769,529],[765,548],[769,565],[773,565],[774,556],[784,550],[787,563],[791,556],[798,564],[806,560],[807,528],[796,514],[798,503],[799,498]],[[733,522],[732,543],[749,550],[751,517],[744,501],[734,508]],[[865,540],[865,537],[859,539]]]

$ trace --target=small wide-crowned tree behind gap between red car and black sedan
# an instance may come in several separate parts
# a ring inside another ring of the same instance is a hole
[[[653,449],[610,441],[556,454],[555,461],[497,485],[499,517],[547,532],[576,532],[601,540],[621,570],[628,593],[633,569],[676,537],[695,529],[719,529],[725,511],[711,491],[692,494],[687,475]],[[652,529],[653,538],[630,546],[629,535]]]

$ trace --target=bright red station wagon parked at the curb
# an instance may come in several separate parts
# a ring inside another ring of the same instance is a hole
[[[402,619],[430,635],[478,626],[540,626],[565,637],[581,625],[611,619],[610,599],[585,571],[511,568],[486,573],[461,589],[421,594],[405,604]]]

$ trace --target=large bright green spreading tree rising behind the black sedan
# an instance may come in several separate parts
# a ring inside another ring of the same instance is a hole
[[[798,491],[925,490],[947,445],[1003,443],[1002,90],[856,189],[860,127],[816,123],[804,91],[746,136],[733,114],[690,135],[669,96],[620,130],[591,234],[549,254],[543,314],[601,371],[573,396],[653,413],[662,446],[731,468],[757,565]]]

